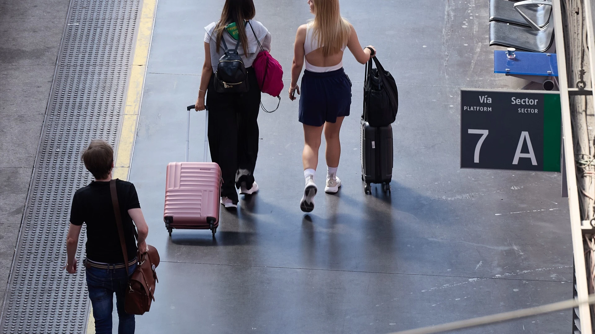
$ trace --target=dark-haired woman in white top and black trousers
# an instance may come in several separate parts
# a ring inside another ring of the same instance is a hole
[[[261,91],[252,63],[260,52],[258,40],[266,51],[271,49],[271,34],[260,22],[252,20],[256,10],[252,0],[226,0],[221,18],[205,27],[205,63],[196,110],[209,108],[208,137],[211,158],[218,163],[223,177],[221,204],[237,207],[240,194],[258,191],[254,168],[258,155],[258,111]],[[246,68],[248,92],[217,92],[215,75],[226,46],[238,52]],[[235,186],[235,187],[234,187]]]

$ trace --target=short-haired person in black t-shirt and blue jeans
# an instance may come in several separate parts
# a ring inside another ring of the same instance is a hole
[[[130,275],[136,267],[136,253],[146,251],[145,239],[149,228],[140,210],[136,188],[130,182],[115,179],[118,204],[124,229],[124,240],[129,259],[126,273],[124,254],[118,235],[109,183],[114,168],[114,150],[103,140],[93,140],[83,152],[84,166],[93,174],[95,181],[74,193],[70,212],[70,228],[67,236],[68,273],[76,273],[76,250],[83,223],[87,225],[87,288],[93,305],[95,333],[112,332],[113,298],[116,295],[119,334],[134,333],[134,314],[124,311],[124,295]],[[134,240],[134,225],[138,230],[138,242]]]

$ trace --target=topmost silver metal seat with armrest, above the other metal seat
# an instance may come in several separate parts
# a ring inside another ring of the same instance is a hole
[[[518,24],[531,27],[521,12],[536,26],[543,28],[549,23],[552,5],[534,4],[533,1],[512,2],[506,0],[490,0],[490,21]]]

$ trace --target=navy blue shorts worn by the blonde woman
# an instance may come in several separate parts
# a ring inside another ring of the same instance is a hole
[[[331,72],[304,71],[299,98],[299,121],[320,127],[349,116],[351,81],[343,68]]]

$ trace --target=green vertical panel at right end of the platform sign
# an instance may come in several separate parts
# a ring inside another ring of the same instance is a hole
[[[559,172],[562,144],[560,95],[544,94],[543,102],[543,170]]]

